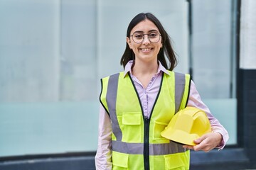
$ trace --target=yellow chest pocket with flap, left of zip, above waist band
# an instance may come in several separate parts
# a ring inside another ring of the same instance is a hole
[[[124,142],[142,142],[142,113],[129,112],[122,114],[122,141]]]

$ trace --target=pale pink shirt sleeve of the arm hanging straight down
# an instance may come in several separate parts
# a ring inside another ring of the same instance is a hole
[[[95,166],[97,170],[112,169],[112,125],[110,115],[105,108],[100,105],[98,145],[95,156]]]

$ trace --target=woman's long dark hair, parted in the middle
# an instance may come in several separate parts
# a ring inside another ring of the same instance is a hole
[[[139,13],[137,16],[135,16],[132,21],[129,23],[129,26],[127,28],[127,38],[130,37],[130,33],[132,31],[132,28],[136,26],[141,21],[144,21],[148,19],[149,21],[153,22],[156,27],[159,29],[159,32],[161,34],[161,41],[163,44],[163,47],[161,47],[157,59],[161,62],[161,64],[169,70],[173,70],[174,67],[177,65],[177,59],[175,52],[173,48],[171,47],[171,38],[166,33],[166,30],[164,30],[164,27],[161,25],[160,21],[154,16],[152,13]],[[166,57],[165,57],[166,55]],[[166,62],[166,59],[169,60],[169,63]],[[134,52],[129,48],[129,45],[127,43],[124,54],[122,55],[120,64],[125,67],[127,62],[129,60],[135,60]]]

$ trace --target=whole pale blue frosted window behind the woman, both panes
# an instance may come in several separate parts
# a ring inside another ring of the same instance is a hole
[[[193,1],[190,37],[185,0],[0,1],[0,157],[97,149],[100,78],[122,70],[127,26],[142,11],[163,23],[175,71],[193,68],[203,101],[235,144],[234,5]]]

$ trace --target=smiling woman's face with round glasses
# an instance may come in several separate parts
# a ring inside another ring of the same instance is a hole
[[[133,36],[127,38],[127,43],[135,54],[135,60],[142,60],[142,62],[157,62],[157,55],[162,47],[162,43],[161,36],[158,42],[153,43],[155,33],[159,34],[159,29],[153,22],[149,21],[148,19],[141,21],[136,26],[134,26],[134,28],[132,28],[130,35]],[[144,35],[144,38],[141,38],[142,42],[140,43],[134,42],[134,40],[138,40],[143,34],[151,35]],[[151,36],[150,40],[153,42],[149,40],[149,36]]]

